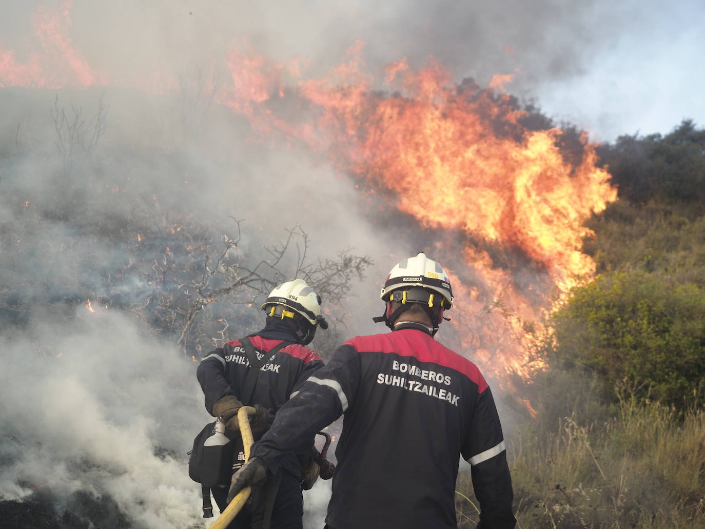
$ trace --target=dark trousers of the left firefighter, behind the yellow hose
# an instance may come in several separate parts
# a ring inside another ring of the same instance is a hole
[[[273,480],[266,482],[262,490],[257,492],[255,501],[247,501],[243,510],[235,516],[235,519],[228,525],[227,529],[260,529],[264,521],[264,509],[269,493],[269,487]],[[228,489],[212,489],[213,499],[221,512],[228,506]],[[271,511],[271,529],[302,529],[304,516],[304,499],[301,493],[299,478],[292,473],[283,470],[281,482],[274,498],[274,509]]]

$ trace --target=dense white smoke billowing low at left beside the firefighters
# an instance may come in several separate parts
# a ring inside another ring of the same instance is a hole
[[[85,491],[139,527],[192,525],[199,498],[184,453],[207,418],[192,372],[119,312],[44,315],[4,347],[4,440],[25,457],[2,466],[0,496]]]

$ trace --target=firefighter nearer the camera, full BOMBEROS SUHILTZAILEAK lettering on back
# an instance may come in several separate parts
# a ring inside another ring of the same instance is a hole
[[[228,499],[276,473],[288,451],[345,415],[329,529],[455,528],[460,455],[471,465],[479,528],[515,527],[500,420],[476,365],[434,340],[453,306],[448,274],[424,253],[381,291],[392,332],[356,336],[279,410],[233,475]]]

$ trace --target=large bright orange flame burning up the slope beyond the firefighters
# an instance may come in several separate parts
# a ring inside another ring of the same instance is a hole
[[[596,145],[583,136],[582,157],[571,164],[559,147],[561,130],[522,126],[526,112],[503,93],[511,75],[481,89],[454,84],[437,63],[412,71],[398,61],[386,68],[385,93],[362,71],[360,50],[353,47],[326,78],[290,91],[314,109],[308,121],[293,125],[273,113],[266,103],[281,97],[282,82],[264,74],[250,72],[256,86],[243,87],[246,104],[231,107],[262,133],[325,149],[338,168],[362,178],[364,192],[391,192],[384,200],[436,231],[427,253],[452,263],[457,303],[448,315],[459,346],[494,375],[530,377],[544,363],[531,358],[527,323],[540,324],[594,273],[581,251],[591,234],[583,224],[617,196],[596,166]],[[235,63],[231,56],[230,66],[240,83],[247,68],[282,71],[262,57]]]

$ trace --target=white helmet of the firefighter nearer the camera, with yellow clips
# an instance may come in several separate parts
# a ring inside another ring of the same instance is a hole
[[[453,291],[450,289],[448,274],[439,263],[430,260],[423,252],[399,262],[391,269],[379,297],[393,301],[394,291],[400,288],[407,290],[411,286],[421,286],[441,294],[442,297],[437,301],[446,310],[453,306]],[[431,305],[436,305],[433,293],[429,300]]]

